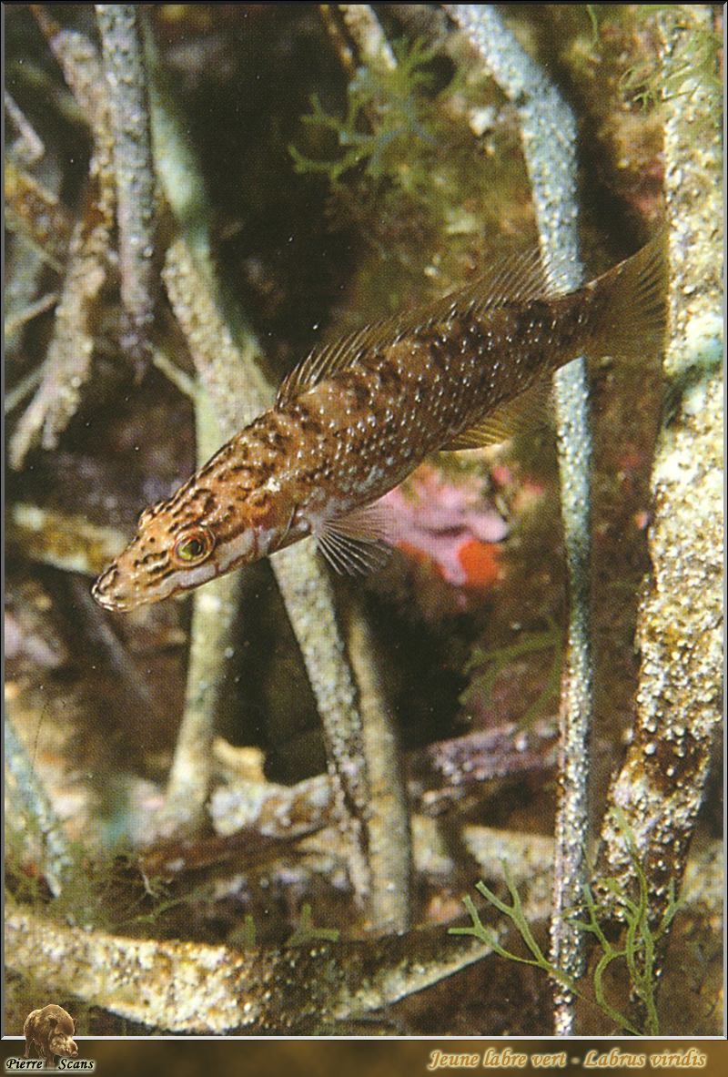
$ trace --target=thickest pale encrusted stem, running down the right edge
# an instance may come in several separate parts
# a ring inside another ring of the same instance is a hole
[[[723,146],[720,96],[690,61],[710,33],[708,4],[659,13],[664,42],[666,199],[671,335],[663,360],[676,402],[652,475],[652,574],[640,605],[642,656],[634,737],[608,796],[602,868],[635,884],[634,843],[650,915],[680,886],[722,716]],[[717,43],[716,43],[717,48]],[[683,78],[680,78],[682,72]]]

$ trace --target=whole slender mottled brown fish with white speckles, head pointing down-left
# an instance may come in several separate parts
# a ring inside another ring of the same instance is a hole
[[[639,362],[659,349],[662,236],[580,288],[558,275],[537,251],[509,256],[443,299],[314,348],[271,408],[142,512],[96,601],[134,610],[307,535],[338,573],[379,567],[377,503],[425,457],[527,428],[554,372],[579,355]]]

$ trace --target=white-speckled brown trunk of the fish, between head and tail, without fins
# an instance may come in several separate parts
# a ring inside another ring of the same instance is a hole
[[[346,512],[362,498],[387,493],[484,408],[495,408],[559,365],[563,341],[556,345],[551,325],[549,311],[460,316],[373,349],[282,411],[267,412],[266,425],[282,419],[297,428],[295,453],[286,461],[296,504],[319,506],[335,495]],[[577,336],[575,323],[573,328],[576,355],[585,334]],[[523,342],[509,362],[509,340],[518,332]]]

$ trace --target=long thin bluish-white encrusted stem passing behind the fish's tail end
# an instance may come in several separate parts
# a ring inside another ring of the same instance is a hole
[[[446,5],[518,110],[523,154],[531,178],[544,253],[559,256],[582,283],[577,236],[575,117],[556,85],[518,44],[492,4]],[[569,634],[561,684],[561,749],[556,827],[551,960],[572,979],[584,967],[584,935],[564,917],[578,904],[586,881],[589,731],[592,713],[590,647],[590,478],[591,434],[584,360],[555,378],[561,517],[569,573]],[[556,1032],[572,1035],[573,998],[556,990]]]

